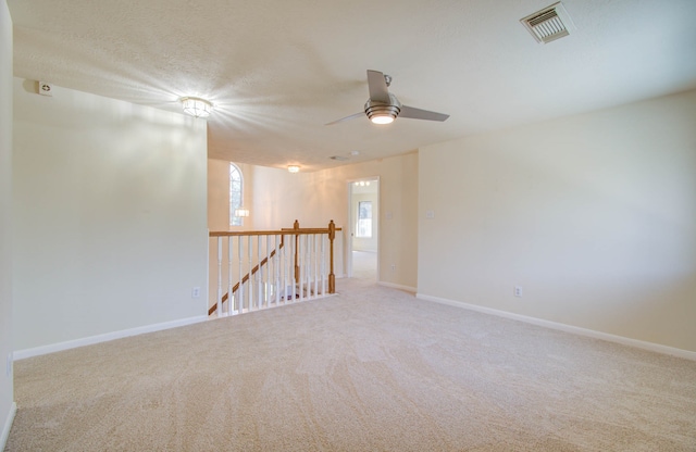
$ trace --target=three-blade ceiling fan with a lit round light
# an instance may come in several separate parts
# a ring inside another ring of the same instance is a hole
[[[355,120],[363,114],[368,115],[374,124],[389,124],[393,123],[397,116],[426,121],[445,121],[449,117],[448,114],[403,105],[396,96],[389,92],[388,87],[390,84],[391,77],[389,75],[383,74],[380,71],[368,70],[370,99],[365,102],[364,112],[351,114],[350,116],[341,117],[340,120],[324,125],[330,126],[344,121]]]

